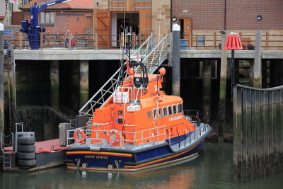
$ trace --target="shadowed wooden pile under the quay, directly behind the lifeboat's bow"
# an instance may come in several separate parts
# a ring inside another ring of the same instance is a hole
[[[211,113],[211,93],[212,93],[212,62],[209,59],[203,61],[203,72],[202,72],[202,107],[203,115],[208,116],[210,122]]]

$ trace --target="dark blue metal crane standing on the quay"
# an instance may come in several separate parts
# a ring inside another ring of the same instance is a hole
[[[28,41],[30,42],[31,50],[38,50],[40,48],[40,33],[45,32],[45,28],[38,25],[38,15],[41,11],[44,11],[48,6],[54,4],[66,3],[71,0],[50,0],[44,3],[35,3],[30,7],[30,23],[28,20],[22,20],[21,32],[28,34]]]

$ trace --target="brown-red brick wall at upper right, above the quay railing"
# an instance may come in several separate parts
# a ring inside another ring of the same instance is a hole
[[[224,29],[225,0],[172,0],[172,16],[192,18],[193,30]],[[282,30],[282,0],[226,0],[227,30]],[[256,16],[262,20],[257,21]]]

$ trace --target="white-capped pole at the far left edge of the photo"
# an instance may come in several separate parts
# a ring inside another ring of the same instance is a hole
[[[0,132],[4,133],[4,25],[0,23]]]

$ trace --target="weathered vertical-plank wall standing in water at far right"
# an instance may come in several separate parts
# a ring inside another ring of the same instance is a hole
[[[283,168],[283,86],[233,86],[235,181],[249,181]]]

